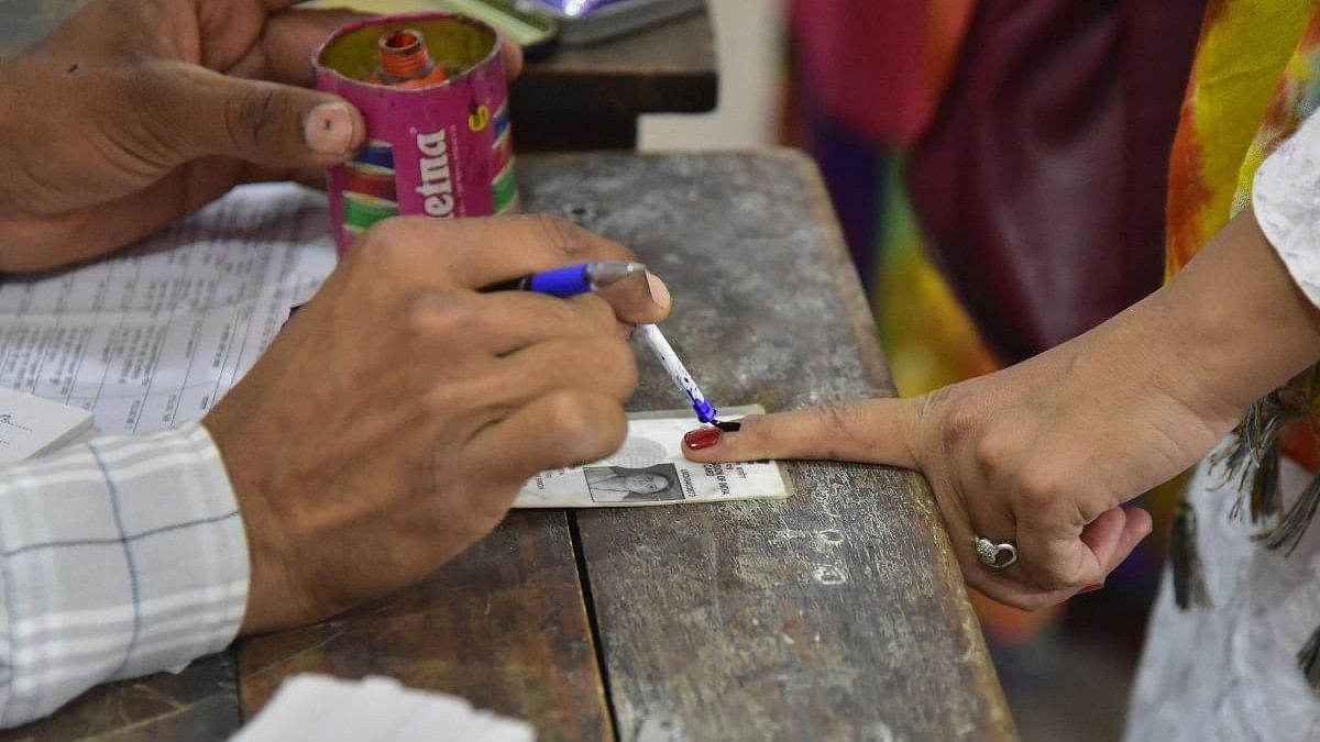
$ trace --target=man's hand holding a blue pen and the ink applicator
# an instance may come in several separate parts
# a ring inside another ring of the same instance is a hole
[[[243,630],[403,588],[494,528],[537,471],[614,452],[636,383],[624,323],[661,320],[664,284],[475,289],[630,257],[553,217],[392,219],[359,239],[203,420],[248,535]]]

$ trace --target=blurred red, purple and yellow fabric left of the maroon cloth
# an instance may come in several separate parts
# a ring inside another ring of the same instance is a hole
[[[825,176],[903,395],[997,367],[925,256],[902,178],[900,153],[935,115],[974,5],[795,0],[791,7],[787,139],[804,145]]]

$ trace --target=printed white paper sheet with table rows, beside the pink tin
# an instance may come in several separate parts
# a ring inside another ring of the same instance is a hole
[[[238,189],[117,257],[0,279],[0,387],[103,433],[199,420],[334,263],[323,194]]]

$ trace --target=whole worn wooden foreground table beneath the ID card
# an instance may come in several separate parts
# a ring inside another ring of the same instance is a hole
[[[892,393],[825,190],[791,152],[520,162],[529,210],[632,246],[725,404]],[[642,359],[635,409],[678,407]],[[95,689],[5,739],[218,739],[293,672],[404,683],[545,741],[1011,739],[924,481],[793,463],[784,502],[524,511],[424,584],[309,628]]]

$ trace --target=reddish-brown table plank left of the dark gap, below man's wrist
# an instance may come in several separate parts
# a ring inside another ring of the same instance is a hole
[[[516,512],[422,584],[238,656],[246,716],[294,672],[391,675],[525,718],[543,742],[611,734],[564,511]]]

